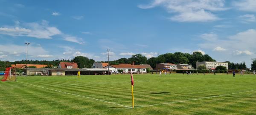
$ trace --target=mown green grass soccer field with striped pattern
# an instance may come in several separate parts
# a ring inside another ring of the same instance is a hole
[[[18,77],[0,82],[0,115],[256,115],[256,76]]]

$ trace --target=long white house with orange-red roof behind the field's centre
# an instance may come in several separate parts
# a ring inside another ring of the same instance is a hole
[[[108,66],[105,66],[108,70]],[[119,64],[119,65],[109,65],[109,71],[112,72],[118,72],[118,70],[123,70],[124,73],[137,73],[137,72],[142,72],[146,73],[147,72],[147,67],[142,66],[142,65],[134,65],[133,64]]]

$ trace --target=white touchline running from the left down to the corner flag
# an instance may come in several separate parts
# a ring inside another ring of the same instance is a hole
[[[17,81],[17,82],[20,82],[20,81]],[[23,82],[20,82],[20,83],[23,83]],[[36,85],[33,85],[33,84],[29,84],[29,83],[24,83],[24,84],[36,86]],[[44,88],[44,89],[49,89],[49,88],[45,88],[45,87],[41,87],[41,86],[37,86],[37,87]],[[52,90],[52,91],[55,91],[55,92],[61,92],[61,91],[58,91],[58,90],[55,90],[55,89],[49,89],[49,90]],[[84,97],[84,98],[89,98],[89,99],[94,99],[94,100],[97,100],[97,101],[102,101],[102,102],[106,102],[106,103],[111,103],[111,104],[115,104],[115,105],[119,105],[119,106],[131,108],[130,106],[124,106],[124,105],[121,105],[121,104],[117,104],[117,103],[113,103],[113,102],[109,102],[109,101],[104,101],[104,100],[100,100],[100,99],[96,99],[96,98],[90,98],[90,97],[86,97],[86,96],[82,96],[82,95],[76,95],[76,94],[72,94],[72,93],[68,93],[68,92],[61,92],[61,93],[70,94],[70,95],[75,95],[75,96]]]

